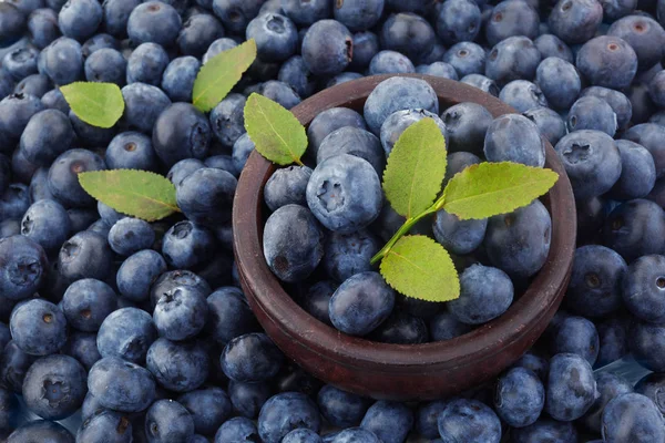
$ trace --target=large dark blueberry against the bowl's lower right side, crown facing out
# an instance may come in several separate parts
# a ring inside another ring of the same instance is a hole
[[[606,317],[622,306],[622,280],[627,270],[624,259],[600,245],[575,250],[566,307],[585,317]]]

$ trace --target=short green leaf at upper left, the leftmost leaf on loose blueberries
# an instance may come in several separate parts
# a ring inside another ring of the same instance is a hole
[[[124,112],[122,92],[114,83],[74,82],[60,87],[79,119],[98,127],[111,127]]]

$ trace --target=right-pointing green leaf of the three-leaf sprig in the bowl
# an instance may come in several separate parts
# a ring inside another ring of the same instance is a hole
[[[557,179],[551,169],[520,163],[471,165],[448,182],[443,209],[462,220],[512,213],[546,194]]]

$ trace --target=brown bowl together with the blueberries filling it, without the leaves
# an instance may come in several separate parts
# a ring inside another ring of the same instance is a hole
[[[492,119],[477,119],[484,113],[472,105],[456,109],[461,103],[480,105]],[[305,157],[300,168],[309,167],[307,174],[278,168],[253,152],[238,181],[233,227],[239,280],[258,321],[305,370],[360,395],[433,400],[495,377],[544,331],[570,278],[575,204],[556,153],[531,133],[538,128],[529,119],[499,99],[442,78],[359,79],[318,93],[291,112],[308,126],[324,111],[340,107],[365,119],[362,131],[379,138],[389,133],[393,140],[399,138],[393,132],[406,133],[409,123],[393,131],[383,131],[382,123],[399,121],[389,119],[396,112],[421,109],[448,144],[444,183],[481,157],[544,165],[559,179],[542,198],[510,214],[484,222],[437,214],[415,224],[412,234],[436,238],[453,253],[460,275],[461,296],[454,302],[431,302],[402,297],[370,264],[405,220],[386,202],[381,175],[362,159],[376,144],[372,137],[356,137],[355,150],[341,148],[339,155],[318,158],[318,165]],[[319,143],[335,130],[318,134]],[[450,135],[456,131],[464,135]],[[467,146],[467,137],[484,141],[484,150]],[[370,147],[364,150],[362,143]],[[267,185],[276,171],[288,197],[279,207],[274,204],[278,188]],[[344,216],[339,208],[351,210]]]

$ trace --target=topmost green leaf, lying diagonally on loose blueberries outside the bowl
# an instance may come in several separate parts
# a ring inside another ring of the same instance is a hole
[[[196,75],[192,103],[202,112],[208,112],[231,92],[256,59],[256,42],[249,39],[243,44],[224,51],[207,61]]]

